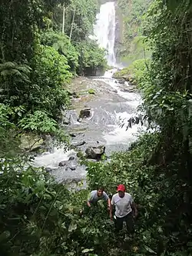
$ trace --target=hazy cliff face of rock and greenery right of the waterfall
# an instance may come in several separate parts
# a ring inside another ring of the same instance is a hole
[[[142,17],[153,0],[115,0],[114,2],[116,58],[123,65],[130,65],[135,60],[144,58]]]

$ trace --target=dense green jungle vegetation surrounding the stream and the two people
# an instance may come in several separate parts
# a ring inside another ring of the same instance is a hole
[[[3,256],[192,254],[190,0],[157,0],[144,17],[152,54],[134,71],[144,99],[141,121],[153,132],[141,134],[129,151],[109,162],[87,163],[88,190],[68,191],[44,169],[25,165],[21,131],[61,138],[58,116],[70,100],[65,85],[75,74],[105,65],[104,52],[88,39],[97,10],[94,0],[1,2]],[[127,236],[122,246],[104,204],[84,218],[78,214],[90,189],[104,185],[113,194],[118,183],[127,185],[139,210],[134,239]]]

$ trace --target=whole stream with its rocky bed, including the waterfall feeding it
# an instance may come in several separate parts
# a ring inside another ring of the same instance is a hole
[[[108,65],[114,69],[102,77],[75,78],[71,91],[71,109],[62,120],[62,127],[71,135],[71,149],[54,148],[35,158],[35,166],[45,166],[58,182],[78,182],[86,177],[85,167],[79,164],[77,151],[82,151],[91,161],[99,161],[102,155],[126,150],[135,140],[139,125],[126,131],[119,121],[126,122],[137,114],[141,96],[126,81],[112,78],[118,70],[114,55],[115,8],[114,2],[101,5],[94,36],[101,47],[108,50]],[[101,29],[102,28],[102,29]],[[126,126],[125,126],[126,127]]]

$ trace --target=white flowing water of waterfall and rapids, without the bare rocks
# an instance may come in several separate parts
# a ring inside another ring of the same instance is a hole
[[[97,22],[94,25],[94,38],[97,38],[98,44],[108,51],[106,55],[108,65],[113,66],[114,69],[106,71],[103,77],[88,78],[88,84],[96,91],[100,90],[100,83],[102,82],[104,94],[101,94],[101,98],[97,98],[97,95],[95,95],[92,101],[83,101],[84,105],[88,105],[91,108],[91,118],[78,122],[78,111],[68,111],[71,125],[68,125],[66,129],[76,135],[72,141],[86,141],[84,146],[78,147],[81,151],[99,141],[101,145],[106,146],[106,154],[111,155],[112,151],[127,149],[130,143],[135,140],[139,126],[135,125],[126,131],[126,128],[121,128],[118,125],[118,122],[119,118],[122,118],[126,123],[129,118],[135,115],[137,105],[141,100],[140,95],[122,89],[122,85],[112,78],[114,71],[118,69],[114,54],[114,2],[107,2],[101,5],[100,12],[97,15]],[[130,85],[125,84],[124,86],[129,87]],[[81,101],[81,99],[78,100]],[[76,165],[75,168],[58,167],[60,161],[67,161],[71,155],[74,156],[75,151],[66,152],[63,148],[55,148],[52,153],[46,152],[44,155],[36,157],[34,165],[51,168],[51,174],[59,182],[81,181],[86,177],[86,171],[83,166]]]

